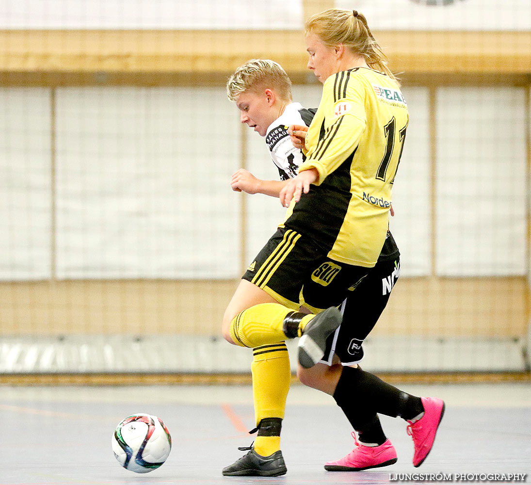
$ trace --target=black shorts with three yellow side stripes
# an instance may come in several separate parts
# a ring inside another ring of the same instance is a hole
[[[309,237],[279,228],[242,278],[288,308],[298,310],[304,305],[319,313],[339,307],[371,271],[332,260],[327,254]]]

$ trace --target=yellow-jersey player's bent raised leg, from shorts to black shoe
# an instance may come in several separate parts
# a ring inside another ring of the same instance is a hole
[[[337,309],[315,309],[327,309],[319,316],[296,311],[304,303],[300,299],[304,281],[320,259],[322,254],[313,241],[291,229],[278,229],[246,271],[228,305],[223,321],[227,341],[254,348],[305,334],[302,343],[310,359],[312,353],[324,352],[326,338],[340,324]]]

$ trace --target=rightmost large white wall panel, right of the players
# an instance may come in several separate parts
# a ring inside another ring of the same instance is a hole
[[[524,89],[441,88],[437,105],[438,273],[523,275]]]

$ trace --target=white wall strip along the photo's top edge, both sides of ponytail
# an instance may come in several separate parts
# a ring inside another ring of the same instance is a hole
[[[373,30],[530,30],[529,0],[336,0]],[[3,0],[1,29],[302,30],[302,0]]]

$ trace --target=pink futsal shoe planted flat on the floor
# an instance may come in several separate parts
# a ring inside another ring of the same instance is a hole
[[[380,446],[365,446],[358,442],[356,433],[352,432],[356,447],[347,456],[336,462],[326,462],[324,469],[329,472],[361,472],[370,468],[392,465],[397,462],[397,452],[387,440]]]

